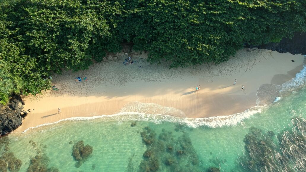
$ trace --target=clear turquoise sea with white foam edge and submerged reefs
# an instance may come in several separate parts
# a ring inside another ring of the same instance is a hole
[[[304,81],[302,71],[278,102],[226,119],[126,114],[12,133],[0,171],[306,171]],[[89,156],[76,161],[80,141]]]

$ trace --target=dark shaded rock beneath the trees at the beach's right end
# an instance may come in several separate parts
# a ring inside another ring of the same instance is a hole
[[[246,45],[246,47],[257,47],[279,53],[306,54],[306,33],[295,33],[292,39],[283,38],[279,43],[267,43],[260,46]]]

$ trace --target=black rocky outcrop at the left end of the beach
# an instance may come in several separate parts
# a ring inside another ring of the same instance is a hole
[[[21,102],[20,96],[14,96],[7,106],[0,104],[0,135],[10,133],[22,124]]]

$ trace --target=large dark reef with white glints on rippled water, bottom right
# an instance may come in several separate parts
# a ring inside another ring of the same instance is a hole
[[[251,127],[244,138],[245,155],[238,158],[237,171],[303,171],[306,164],[306,121],[293,117],[287,129],[275,138]]]

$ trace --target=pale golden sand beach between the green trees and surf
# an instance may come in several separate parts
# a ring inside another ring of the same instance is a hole
[[[142,62],[141,58],[147,57],[145,53],[133,52],[129,56],[136,62],[123,65],[127,55],[121,53],[85,71],[54,75],[52,82],[59,91],[47,90],[35,97],[24,97],[24,109],[35,110],[16,132],[65,118],[119,112],[188,118],[240,113],[256,106],[256,93],[261,85],[281,85],[290,80],[303,68],[304,60],[300,54],[245,49],[219,65],[169,69],[167,62],[161,65]],[[86,76],[88,81],[76,82],[75,77],[79,76]],[[233,85],[235,79],[237,85]],[[201,86],[199,92],[195,92],[197,85]],[[58,108],[62,113],[57,113]]]

